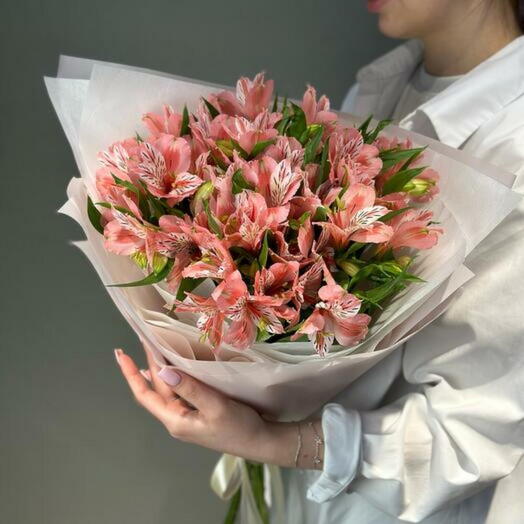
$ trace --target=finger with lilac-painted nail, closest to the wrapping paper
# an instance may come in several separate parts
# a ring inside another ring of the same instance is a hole
[[[157,374],[171,389],[204,414],[216,413],[225,403],[225,397],[190,375],[164,366]]]

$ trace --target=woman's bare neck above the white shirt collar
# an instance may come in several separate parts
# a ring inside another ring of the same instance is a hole
[[[434,76],[463,75],[500,51],[522,33],[513,16],[486,15],[421,37],[424,67]]]

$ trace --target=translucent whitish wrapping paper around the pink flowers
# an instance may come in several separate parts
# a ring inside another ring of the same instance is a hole
[[[140,278],[143,275],[130,260],[104,249],[101,235],[87,218],[86,196],[94,194],[97,153],[144,132],[142,114],[159,111],[163,104],[178,110],[187,104],[191,111],[201,96],[222,87],[70,57],[61,59],[59,76],[46,78],[46,85],[81,175],[71,180],[68,201],[60,209],[86,234],[87,240],[76,245],[104,284]],[[349,115],[341,119],[357,121]],[[309,343],[296,342],[255,344],[242,353],[226,347],[217,360],[199,341],[200,332],[190,316],[176,320],[166,314],[165,293],[158,286],[107,288],[137,335],[154,348],[159,364],[165,359],[262,413],[297,420],[317,411],[445,309],[453,293],[473,277],[463,265],[465,256],[517,205],[519,197],[509,189],[512,176],[414,133],[391,126],[386,134],[428,144],[427,162],[441,176],[441,194],[432,206],[445,233],[413,269],[426,283],[409,286],[362,344],[334,347],[324,359]]]

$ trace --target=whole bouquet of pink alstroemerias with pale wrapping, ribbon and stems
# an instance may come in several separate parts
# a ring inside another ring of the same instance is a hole
[[[126,320],[159,363],[283,420],[440,314],[518,201],[505,173],[263,74],[234,92],[65,57],[46,82],[82,175],[61,211]],[[246,468],[224,457],[215,487],[242,484],[254,518]]]

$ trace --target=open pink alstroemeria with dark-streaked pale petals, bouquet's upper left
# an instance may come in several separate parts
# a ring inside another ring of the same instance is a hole
[[[143,144],[136,173],[151,194],[166,198],[174,206],[202,184],[202,179],[188,172],[190,164],[191,148],[187,141],[161,135],[154,145]]]

